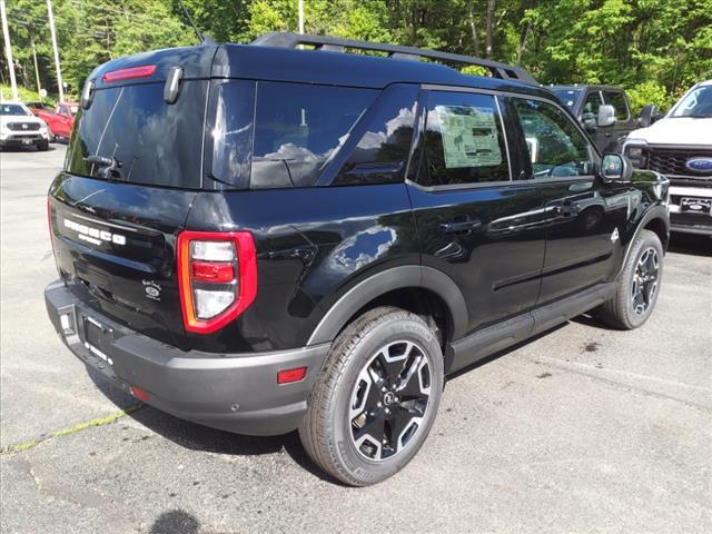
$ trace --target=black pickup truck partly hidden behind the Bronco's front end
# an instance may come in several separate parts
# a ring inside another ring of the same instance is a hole
[[[640,127],[623,89],[612,86],[548,86],[581,121],[602,152],[621,152],[627,135]]]

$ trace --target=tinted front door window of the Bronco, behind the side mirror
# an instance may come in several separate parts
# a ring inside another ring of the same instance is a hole
[[[589,141],[563,110],[540,100],[513,99],[534,178],[589,175]]]

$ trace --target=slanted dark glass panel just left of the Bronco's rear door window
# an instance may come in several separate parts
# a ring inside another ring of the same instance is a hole
[[[418,89],[386,89],[365,117],[367,125],[355,132],[358,144],[334,179],[334,185],[399,181],[411,150]]]

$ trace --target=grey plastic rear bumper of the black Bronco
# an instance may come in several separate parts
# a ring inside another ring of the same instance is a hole
[[[44,301],[67,347],[107,380],[127,393],[139,387],[149,395],[147,404],[177,417],[238,434],[278,435],[297,428],[329,347],[184,352],[87,307],[60,280],[44,289]],[[100,347],[86,343],[87,320],[101,325]],[[277,372],[301,366],[307,367],[305,379],[277,384]]]

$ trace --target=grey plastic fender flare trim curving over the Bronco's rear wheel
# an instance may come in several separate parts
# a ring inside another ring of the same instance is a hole
[[[334,340],[356,312],[375,298],[405,287],[428,289],[439,296],[449,308],[453,318],[453,339],[459,339],[465,335],[469,314],[465,297],[453,279],[432,267],[408,265],[382,270],[342,295],[316,326],[307,345]]]

